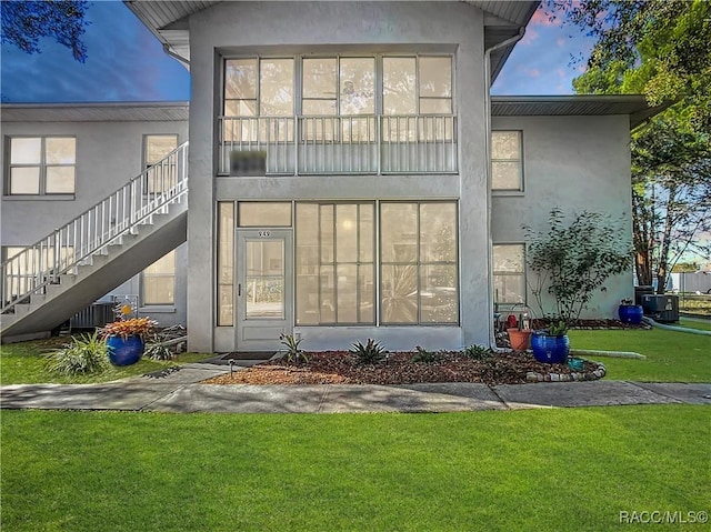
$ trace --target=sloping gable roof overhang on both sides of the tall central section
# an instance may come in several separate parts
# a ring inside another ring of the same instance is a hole
[[[484,48],[489,49],[519,34],[521,28],[533,17],[540,0],[534,1],[460,1],[481,9],[484,12]],[[190,30],[188,19],[203,9],[220,1],[153,1],[124,0],[126,6],[143,22],[163,44],[166,53],[181,61],[187,68],[190,63]],[[515,42],[501,47],[491,53],[491,82],[503,68]]]

